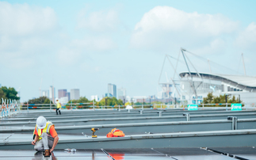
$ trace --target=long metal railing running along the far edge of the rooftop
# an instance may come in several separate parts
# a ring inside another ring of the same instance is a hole
[[[193,104],[152,104],[152,105],[131,105],[132,109],[188,109],[188,105]],[[250,107],[249,107],[250,106]],[[5,100],[1,105],[2,117],[13,116],[17,114],[20,110],[36,110],[36,109],[46,109],[52,112],[56,109],[56,104],[21,104],[19,101],[11,101]],[[113,109],[113,110],[121,110],[127,109],[125,105],[107,105],[107,106],[98,106],[95,105],[94,102],[90,103],[70,103],[63,104],[62,109]],[[231,109],[231,104],[200,104],[198,105],[198,109]],[[256,109],[254,104],[243,104],[243,109]]]

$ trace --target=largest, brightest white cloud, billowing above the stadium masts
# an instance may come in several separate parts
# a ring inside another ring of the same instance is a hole
[[[221,14],[186,13],[170,6],[156,6],[136,24],[131,44],[134,48],[169,51],[170,47],[217,48],[223,46],[219,45],[219,36],[235,32],[238,25]]]

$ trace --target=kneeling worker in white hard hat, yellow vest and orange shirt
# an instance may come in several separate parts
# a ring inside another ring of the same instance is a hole
[[[44,151],[44,156],[50,156],[59,141],[59,136],[55,131],[54,124],[46,121],[44,116],[39,116],[36,120],[36,128],[34,130],[34,140],[32,145],[37,151]]]

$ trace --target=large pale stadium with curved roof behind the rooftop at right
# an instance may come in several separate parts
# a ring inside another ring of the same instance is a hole
[[[240,97],[247,106],[255,103],[256,77],[201,72],[181,72],[179,75],[181,77],[180,86],[183,91],[181,100],[186,100],[189,104],[201,104],[208,93],[218,97],[231,94],[231,96]],[[193,78],[193,81],[188,80],[188,77]]]

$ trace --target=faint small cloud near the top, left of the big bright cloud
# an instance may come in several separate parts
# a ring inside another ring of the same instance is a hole
[[[78,29],[108,32],[117,29],[118,14],[115,10],[92,12],[86,15],[82,10],[78,15]]]

